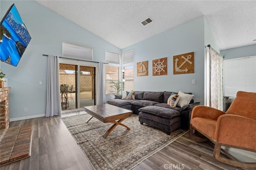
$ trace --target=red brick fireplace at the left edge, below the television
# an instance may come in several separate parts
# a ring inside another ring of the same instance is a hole
[[[0,141],[9,128],[9,90],[11,87],[0,88]]]

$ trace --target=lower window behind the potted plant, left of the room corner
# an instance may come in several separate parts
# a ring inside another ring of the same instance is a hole
[[[119,67],[106,65],[106,95],[112,94],[114,90],[111,85],[111,82],[119,82]]]

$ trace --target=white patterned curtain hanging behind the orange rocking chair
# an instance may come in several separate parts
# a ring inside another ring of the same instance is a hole
[[[223,57],[210,47],[210,107],[222,110]]]

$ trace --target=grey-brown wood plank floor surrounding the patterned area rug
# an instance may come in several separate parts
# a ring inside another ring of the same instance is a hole
[[[84,111],[63,114],[62,117],[79,115]],[[40,117],[10,122],[10,127],[33,124],[30,158],[1,166],[1,170],[93,170],[90,162],[71,136],[59,116]],[[256,160],[254,153],[240,152]],[[188,133],[178,138],[162,150],[156,152],[133,170],[239,170],[226,165],[213,156],[210,142],[195,142]]]

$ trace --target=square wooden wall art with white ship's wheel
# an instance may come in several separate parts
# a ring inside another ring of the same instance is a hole
[[[152,61],[153,75],[167,75],[167,57]]]

